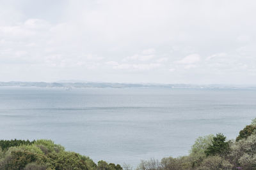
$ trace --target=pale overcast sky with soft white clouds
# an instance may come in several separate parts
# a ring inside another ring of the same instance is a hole
[[[255,6],[0,0],[0,81],[254,85]]]

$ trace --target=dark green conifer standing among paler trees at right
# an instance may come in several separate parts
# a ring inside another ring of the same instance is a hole
[[[227,154],[229,150],[229,143],[225,141],[226,137],[219,133],[212,139],[212,145],[205,150],[205,154],[209,155],[223,155]]]

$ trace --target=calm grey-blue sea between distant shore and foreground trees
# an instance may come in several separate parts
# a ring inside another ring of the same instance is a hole
[[[52,139],[95,162],[188,154],[198,136],[228,139],[256,117],[256,91],[0,87],[1,139]]]

